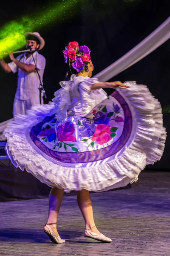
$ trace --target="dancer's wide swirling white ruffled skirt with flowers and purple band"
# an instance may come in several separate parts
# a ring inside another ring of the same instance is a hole
[[[39,105],[8,123],[11,162],[48,186],[106,191],[138,179],[160,160],[166,139],[161,105],[144,85],[126,82],[87,116],[57,122],[54,104]]]

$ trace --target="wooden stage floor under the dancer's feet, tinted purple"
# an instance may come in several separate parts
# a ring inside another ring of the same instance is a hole
[[[91,194],[96,226],[113,242],[84,237],[76,196],[63,198],[53,244],[48,199],[0,202],[0,256],[170,256],[170,172],[142,172],[131,189]]]

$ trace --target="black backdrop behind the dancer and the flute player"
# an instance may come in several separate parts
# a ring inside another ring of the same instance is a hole
[[[53,3],[65,1],[53,1]],[[0,25],[17,20],[24,15],[34,17],[43,5],[51,1],[29,0],[3,2],[0,9]],[[44,87],[46,103],[59,89],[59,81],[68,70],[62,50],[69,41],[78,41],[91,49],[94,73],[112,64],[147,35],[153,32],[170,13],[169,0],[84,0],[56,22],[38,30],[45,39],[40,51],[46,58]],[[34,31],[31,31],[34,32]],[[6,61],[9,61],[6,58]],[[113,81],[135,80],[146,84],[151,93],[159,99],[164,113],[164,126],[170,134],[170,41],[164,43],[142,61],[120,73]],[[17,75],[6,74],[0,69],[0,122],[12,118],[12,105],[16,91]],[[107,91],[110,93],[110,91]],[[170,170],[170,136],[167,136],[164,155],[153,169]]]

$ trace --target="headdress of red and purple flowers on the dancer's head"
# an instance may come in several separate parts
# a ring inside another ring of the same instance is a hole
[[[85,67],[91,60],[91,50],[87,46],[79,47],[79,44],[74,41],[70,42],[62,52],[64,53],[65,63],[69,65],[70,69],[73,67],[78,73],[86,71]]]

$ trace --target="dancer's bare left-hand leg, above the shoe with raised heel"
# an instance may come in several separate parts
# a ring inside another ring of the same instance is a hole
[[[51,189],[50,195],[49,195],[49,212],[48,212],[48,223],[55,223],[49,225],[53,232],[58,236],[57,232],[57,217],[59,213],[59,209],[62,203],[62,197],[63,197],[64,190],[58,189],[56,187]],[[48,231],[47,227],[44,227],[44,230]]]

